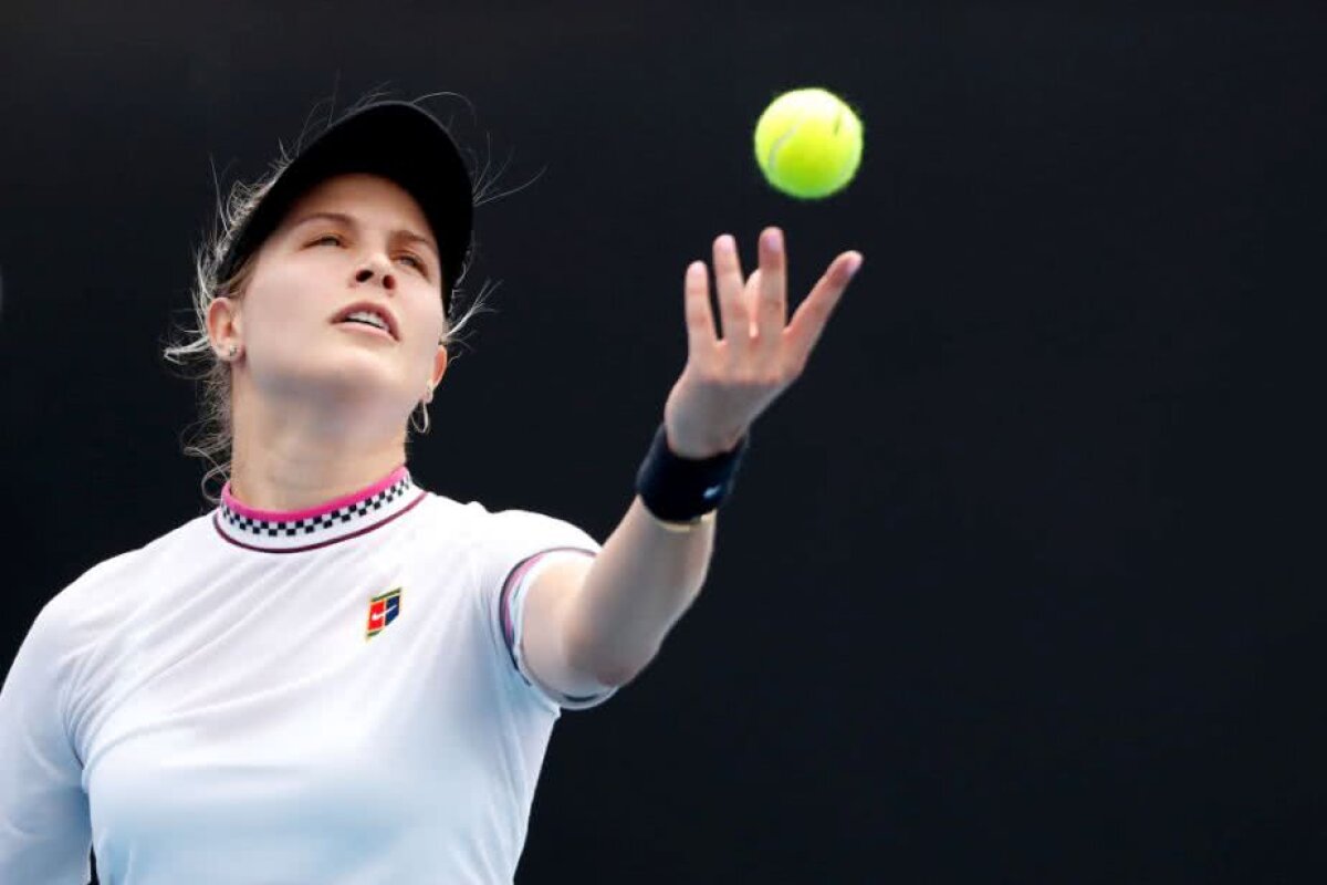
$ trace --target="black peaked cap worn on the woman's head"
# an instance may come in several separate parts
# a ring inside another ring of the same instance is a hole
[[[216,279],[228,280],[311,188],[352,172],[395,182],[423,210],[442,259],[442,306],[450,312],[451,289],[470,252],[474,218],[470,172],[442,123],[403,101],[357,107],[300,149],[232,235]]]

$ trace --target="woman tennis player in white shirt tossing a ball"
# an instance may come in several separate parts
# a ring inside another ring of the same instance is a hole
[[[472,187],[413,103],[342,115],[224,212],[173,350],[207,365],[215,510],[52,598],[0,693],[0,882],[511,882],[561,710],[695,598],[752,421],[861,264],[787,317],[768,228],[686,268],[689,354],[600,545],[421,488]],[[718,328],[717,328],[718,326]],[[544,427],[527,430],[539,444]]]

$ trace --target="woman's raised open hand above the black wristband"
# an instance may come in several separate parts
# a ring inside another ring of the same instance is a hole
[[[759,251],[759,268],[743,280],[733,236],[714,240],[722,337],[714,326],[705,263],[686,268],[686,368],[664,406],[669,448],[683,458],[731,451],[798,379],[863,261],[859,252],[831,261],[790,322],[783,231],[762,231]]]

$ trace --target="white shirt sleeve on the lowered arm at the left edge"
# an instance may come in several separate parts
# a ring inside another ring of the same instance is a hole
[[[73,669],[54,602],[0,689],[0,882],[84,885],[92,821],[64,714]]]

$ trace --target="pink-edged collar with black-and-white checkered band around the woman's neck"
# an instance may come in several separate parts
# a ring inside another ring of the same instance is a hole
[[[295,553],[326,547],[372,532],[418,504],[425,492],[405,467],[354,494],[301,511],[265,511],[247,507],[222,490],[212,524],[223,539],[256,551]]]

